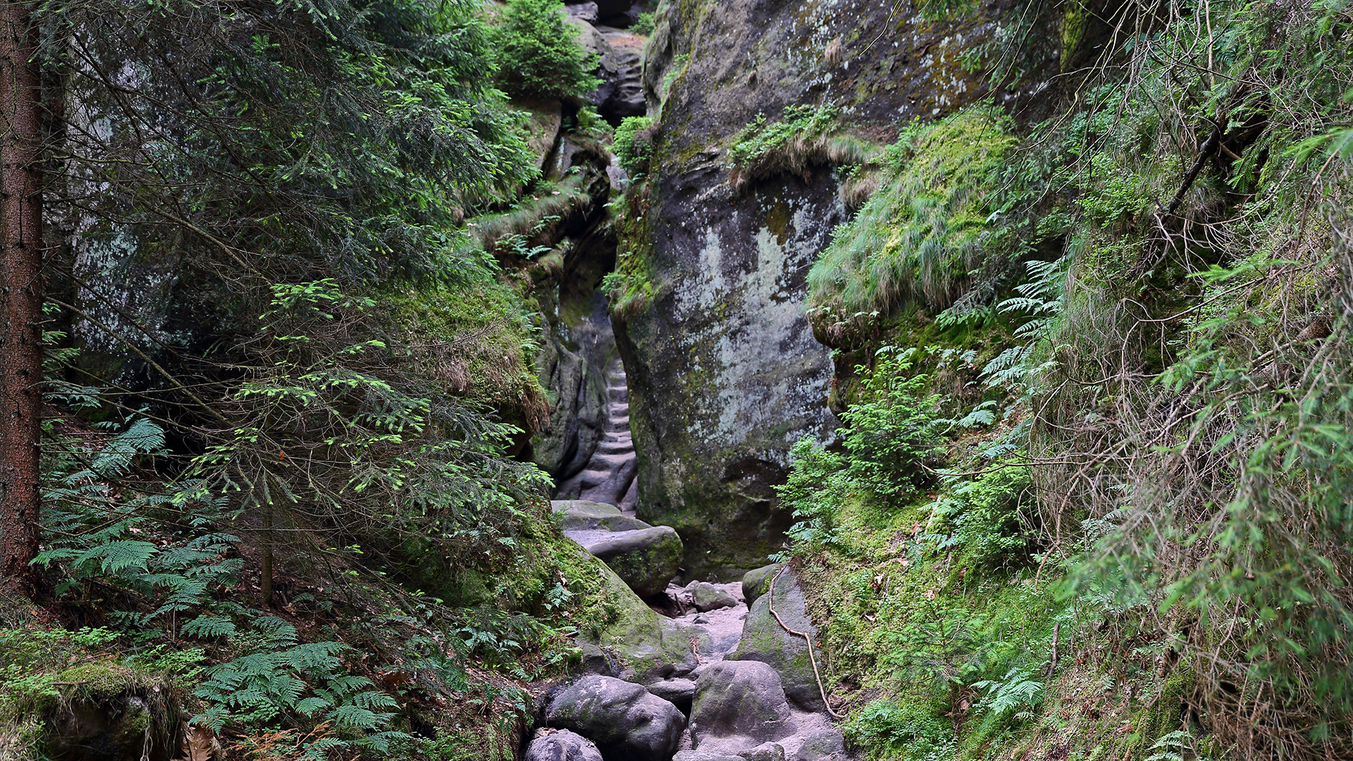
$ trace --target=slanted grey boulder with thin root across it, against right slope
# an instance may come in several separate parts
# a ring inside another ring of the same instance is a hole
[[[808,617],[804,589],[798,585],[794,571],[786,570],[775,581],[775,612],[785,626],[817,636],[817,627]],[[737,650],[729,655],[735,661],[760,661],[773,666],[785,685],[785,695],[805,711],[823,711],[823,696],[817,688],[812,661],[808,658],[808,642],[796,634],[789,634],[775,620],[770,611],[771,594],[767,592],[751,605],[743,622],[743,638]]]

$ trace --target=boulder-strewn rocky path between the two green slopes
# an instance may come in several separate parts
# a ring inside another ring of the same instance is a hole
[[[547,696],[528,761],[848,758],[809,645],[785,628],[816,636],[792,570],[678,586],[668,584],[681,562],[671,528],[602,502],[563,500],[553,509],[564,534],[624,582],[614,593],[626,619],[579,643],[579,673]]]

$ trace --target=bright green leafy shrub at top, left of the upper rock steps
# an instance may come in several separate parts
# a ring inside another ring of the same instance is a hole
[[[494,37],[498,79],[507,92],[578,102],[597,89],[597,56],[578,43],[559,0],[509,0]]]

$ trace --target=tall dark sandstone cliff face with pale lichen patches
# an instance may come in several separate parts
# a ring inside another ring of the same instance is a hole
[[[932,22],[865,0],[659,8],[644,87],[660,127],[647,187],[632,191],[648,194],[648,211],[643,234],[620,241],[647,257],[653,295],[616,326],[639,515],[681,532],[689,573],[762,565],[790,523],[773,489],[790,445],[836,425],[832,362],[804,316],[804,276],[850,214],[842,176],[809,158],[735,188],[728,146],[758,114],[775,121],[793,104],[831,104],[842,131],[884,144],[912,118],[986,95],[1017,102],[1040,85],[990,93],[963,65],[1005,9],[978,1],[959,20]]]

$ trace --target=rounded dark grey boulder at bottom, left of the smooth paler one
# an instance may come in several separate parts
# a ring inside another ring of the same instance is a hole
[[[637,684],[589,676],[549,701],[545,723],[590,738],[610,760],[668,761],[686,716]]]

